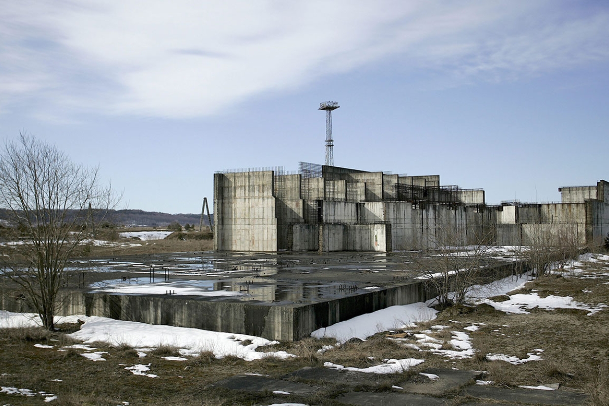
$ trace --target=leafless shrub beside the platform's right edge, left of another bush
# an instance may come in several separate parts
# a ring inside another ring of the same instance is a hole
[[[463,240],[454,231],[438,229],[429,250],[411,257],[420,268],[420,278],[437,294],[437,306],[462,304],[473,285],[487,282],[484,273],[485,256],[493,247],[492,231]]]

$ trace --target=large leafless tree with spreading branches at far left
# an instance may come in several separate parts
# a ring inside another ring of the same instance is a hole
[[[67,267],[114,199],[97,168],[75,164],[53,145],[21,133],[0,152],[0,207],[16,243],[5,244],[7,276],[21,287],[43,326],[54,327]]]

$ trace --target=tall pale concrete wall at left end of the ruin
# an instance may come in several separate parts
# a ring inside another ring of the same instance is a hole
[[[276,251],[275,210],[272,171],[216,173],[214,248]]]

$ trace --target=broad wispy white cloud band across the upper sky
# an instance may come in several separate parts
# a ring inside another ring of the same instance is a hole
[[[5,2],[0,113],[30,100],[57,114],[205,116],[389,56],[468,80],[607,61],[609,8],[569,4]]]

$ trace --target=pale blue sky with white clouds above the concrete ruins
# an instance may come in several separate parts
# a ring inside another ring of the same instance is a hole
[[[609,179],[609,3],[0,0],[0,138],[197,213],[226,169],[325,162],[560,201]],[[210,208],[211,209],[211,208]]]

